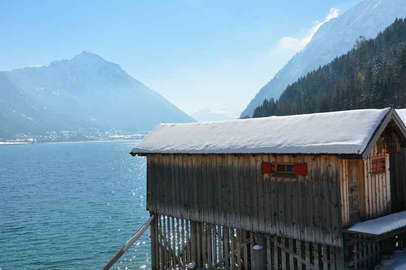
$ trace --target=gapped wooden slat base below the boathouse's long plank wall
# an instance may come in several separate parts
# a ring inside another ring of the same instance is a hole
[[[343,248],[154,214],[151,266],[156,269],[343,269]],[[254,251],[260,243],[262,251]],[[255,256],[254,252],[262,253]]]

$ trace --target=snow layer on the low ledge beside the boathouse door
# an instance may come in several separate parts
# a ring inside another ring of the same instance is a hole
[[[347,230],[356,233],[382,235],[406,226],[406,211],[357,223]]]

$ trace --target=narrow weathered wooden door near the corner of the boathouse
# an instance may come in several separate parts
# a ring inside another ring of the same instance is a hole
[[[348,208],[350,212],[350,224],[360,221],[360,166],[359,161],[348,163]]]

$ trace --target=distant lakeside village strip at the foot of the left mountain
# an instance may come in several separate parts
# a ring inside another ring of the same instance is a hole
[[[145,137],[148,131],[138,133],[125,132],[112,128],[107,131],[99,129],[81,129],[77,131],[47,131],[43,135],[19,133],[15,139],[0,138],[0,145],[48,143],[48,142],[80,142],[80,141],[109,141],[109,140],[138,140]]]

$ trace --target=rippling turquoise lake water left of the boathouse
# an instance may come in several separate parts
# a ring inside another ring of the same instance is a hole
[[[134,144],[0,146],[0,267],[103,267],[149,217]],[[150,268],[148,234],[113,268]]]

